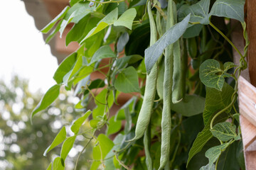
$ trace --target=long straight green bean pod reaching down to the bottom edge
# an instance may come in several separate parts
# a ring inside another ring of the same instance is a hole
[[[174,8],[173,1],[169,0],[167,8],[166,30],[174,26]],[[160,169],[164,169],[169,162],[170,142],[171,142],[171,90],[172,74],[174,69],[174,45],[169,45],[165,50],[164,58],[164,107],[161,119],[161,157]],[[165,169],[169,169],[166,167]]]

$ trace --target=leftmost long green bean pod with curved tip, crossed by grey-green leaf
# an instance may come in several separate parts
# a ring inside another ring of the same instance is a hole
[[[150,23],[150,45],[153,45],[157,38],[156,24],[154,22],[154,17],[151,11],[150,1],[147,4],[148,14],[149,14],[149,23]],[[154,96],[156,94],[156,79],[157,79],[157,62],[154,64],[154,67],[151,69],[150,74],[146,75],[146,86],[144,92],[144,98],[142,102],[142,108],[139,111],[139,117],[137,120],[137,125],[135,129],[135,137],[132,140],[127,142],[132,142],[138,140],[144,135],[146,128],[149,125],[151,112],[154,104]]]

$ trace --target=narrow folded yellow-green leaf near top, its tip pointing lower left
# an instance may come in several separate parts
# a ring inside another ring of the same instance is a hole
[[[104,18],[102,18],[99,23],[97,23],[97,26],[95,28],[92,28],[89,33],[85,36],[84,39],[80,42],[80,44],[85,41],[87,38],[90,38],[92,35],[95,35],[96,33],[99,33],[101,30],[106,28],[107,26],[110,26],[114,23],[114,21],[117,21],[118,17],[118,8],[114,8],[113,11],[107,14]]]

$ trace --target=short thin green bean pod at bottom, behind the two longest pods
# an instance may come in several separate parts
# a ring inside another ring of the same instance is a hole
[[[153,169],[153,162],[150,157],[150,145],[151,145],[151,127],[150,127],[150,122],[148,128],[146,128],[146,132],[144,134],[143,138],[143,143],[144,143],[144,150],[145,150],[145,155],[146,155],[146,167],[148,170]]]

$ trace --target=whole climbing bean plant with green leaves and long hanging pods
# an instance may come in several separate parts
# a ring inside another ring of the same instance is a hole
[[[48,169],[65,169],[78,136],[84,149],[75,169],[90,143],[90,169],[245,169],[237,102],[249,43],[244,5],[245,0],[70,0],[41,32],[49,42],[73,23],[65,44],[80,47],[60,64],[56,84],[31,120],[55,101],[60,86],[80,97],[75,109],[81,115],[46,149],[45,156],[62,144]],[[235,20],[244,30],[243,51],[230,40]],[[239,64],[233,63],[233,49]],[[104,78],[92,79],[95,72]],[[131,97],[121,106],[124,94]],[[112,106],[119,110],[111,112]],[[85,121],[90,129],[82,128]]]

